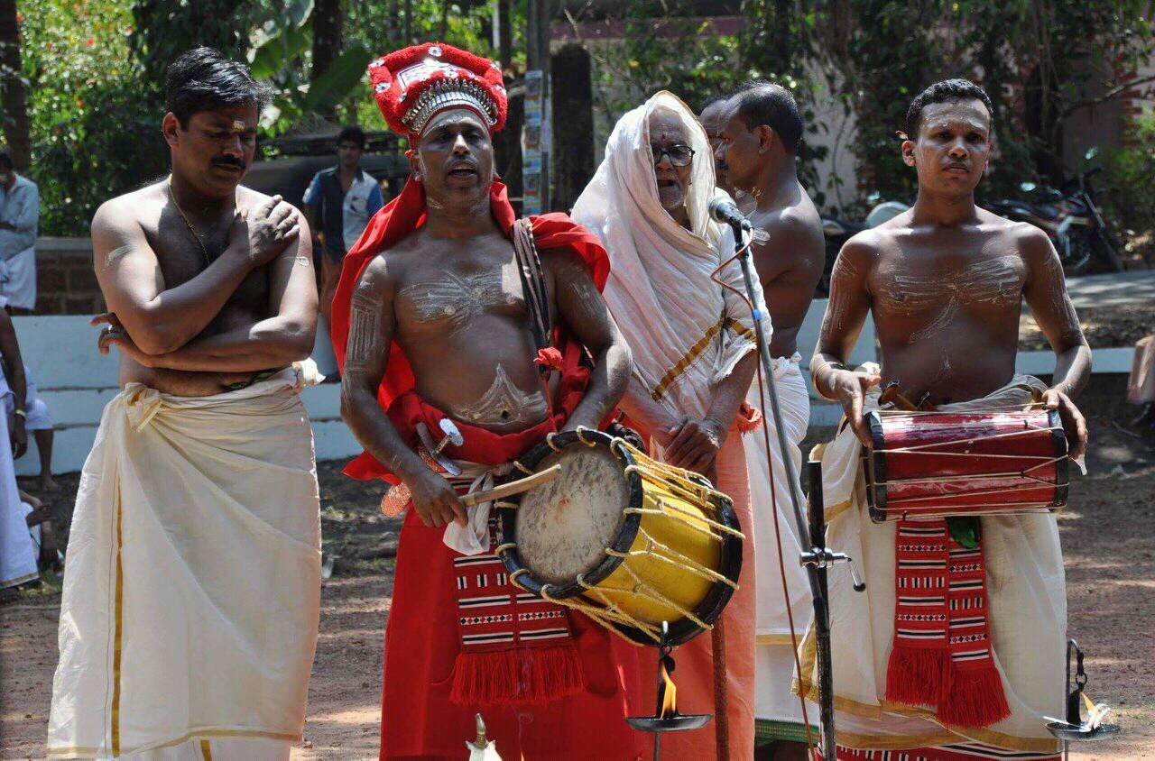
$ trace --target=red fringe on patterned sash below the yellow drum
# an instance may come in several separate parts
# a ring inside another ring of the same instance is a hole
[[[457,706],[544,703],[586,689],[573,646],[460,652],[449,701]]]

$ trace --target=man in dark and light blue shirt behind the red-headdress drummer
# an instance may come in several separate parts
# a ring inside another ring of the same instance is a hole
[[[333,293],[341,262],[370,218],[383,206],[381,186],[362,170],[365,133],[345,127],[337,135],[337,165],[321,170],[305,192],[305,218],[313,229],[313,249],[321,252],[321,315],[328,333]]]

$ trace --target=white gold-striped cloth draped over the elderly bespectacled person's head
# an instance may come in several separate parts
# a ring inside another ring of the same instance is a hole
[[[686,188],[690,230],[658,200],[649,139],[649,115],[657,109],[680,117],[694,150]],[[713,387],[754,350],[750,307],[710,281],[733,255],[733,233],[709,216],[710,200],[720,193],[706,130],[686,104],[663,91],[618,120],[605,158],[572,214],[610,253],[605,303],[633,351],[633,390],[648,394],[677,419],[705,417]],[[737,262],[718,279],[746,292]],[[766,315],[757,278],[754,284],[755,304]],[[769,341],[769,316],[762,327]]]

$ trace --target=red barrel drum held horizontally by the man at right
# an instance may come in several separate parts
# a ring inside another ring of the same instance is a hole
[[[1042,513],[1067,502],[1067,439],[1056,410],[867,416],[871,520]]]

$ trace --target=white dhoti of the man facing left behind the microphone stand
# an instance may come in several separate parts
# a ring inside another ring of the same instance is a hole
[[[774,360],[774,383],[777,389],[782,423],[785,427],[787,455],[793,464],[793,472],[800,477],[803,439],[810,425],[810,391],[798,367],[798,355],[791,358],[778,357]],[[770,450],[761,428],[757,428],[744,439],[746,445],[746,463],[750,470],[750,498],[754,516],[753,539],[757,558],[758,587],[758,648],[755,651],[755,717],[758,718],[758,739],[805,741],[806,731],[803,726],[802,704],[798,696],[790,692],[790,682],[795,672],[793,647],[790,636],[790,615],[788,614],[785,595],[782,590],[782,572],[778,568],[778,543],[774,524],[777,521],[782,539],[782,554],[787,577],[787,590],[790,596],[789,613],[793,615],[795,631],[800,641],[806,625],[812,617],[810,582],[806,570],[798,565],[802,545],[798,540],[798,529],[790,502],[785,467],[778,448],[777,433],[774,430],[774,415],[770,409],[769,389],[759,395],[755,381],[746,401],[766,416],[769,423]],[[767,460],[774,463],[773,499]],[[799,500],[803,505],[802,495]],[[775,516],[775,508],[777,515]],[[811,711],[814,714],[814,711]],[[818,717],[811,715],[811,723],[817,725]]]

